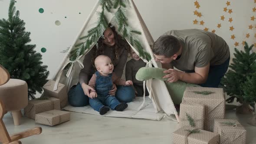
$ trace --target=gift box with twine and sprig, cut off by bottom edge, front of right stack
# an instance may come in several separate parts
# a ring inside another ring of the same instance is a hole
[[[199,133],[190,133],[193,130],[190,126],[179,128],[173,133],[174,144],[219,144],[220,134],[199,130]]]

